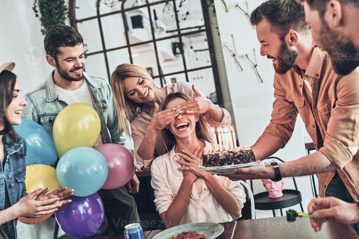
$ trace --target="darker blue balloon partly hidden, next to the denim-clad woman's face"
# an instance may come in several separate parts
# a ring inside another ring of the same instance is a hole
[[[22,119],[22,123],[14,125],[16,132],[26,140],[26,166],[46,164],[53,166],[57,161],[55,144],[49,133],[38,123]]]

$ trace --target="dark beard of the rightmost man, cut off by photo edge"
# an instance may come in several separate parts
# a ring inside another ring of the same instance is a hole
[[[337,74],[348,75],[359,66],[358,50],[353,42],[331,30],[326,21],[322,21],[320,38],[322,47],[330,55]]]

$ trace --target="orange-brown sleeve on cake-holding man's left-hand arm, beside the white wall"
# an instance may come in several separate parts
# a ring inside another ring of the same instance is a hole
[[[295,106],[293,99],[286,97],[286,91],[280,83],[280,77],[277,73],[274,75],[274,97],[272,118],[269,125],[263,133],[268,133],[280,138],[283,142],[283,147],[288,143],[292,137],[295,119],[298,115],[298,109]],[[288,95],[290,98],[290,96]],[[282,148],[283,148],[282,147]]]

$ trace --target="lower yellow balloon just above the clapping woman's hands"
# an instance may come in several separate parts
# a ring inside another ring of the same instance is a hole
[[[33,164],[26,167],[26,192],[31,193],[39,188],[50,187],[48,193],[61,187],[57,181],[56,169],[45,164]]]

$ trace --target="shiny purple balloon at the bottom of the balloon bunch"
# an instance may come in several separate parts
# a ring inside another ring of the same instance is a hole
[[[102,226],[104,207],[100,195],[78,197],[71,195],[68,204],[55,211],[55,217],[60,228],[74,238],[86,238],[94,235]]]

